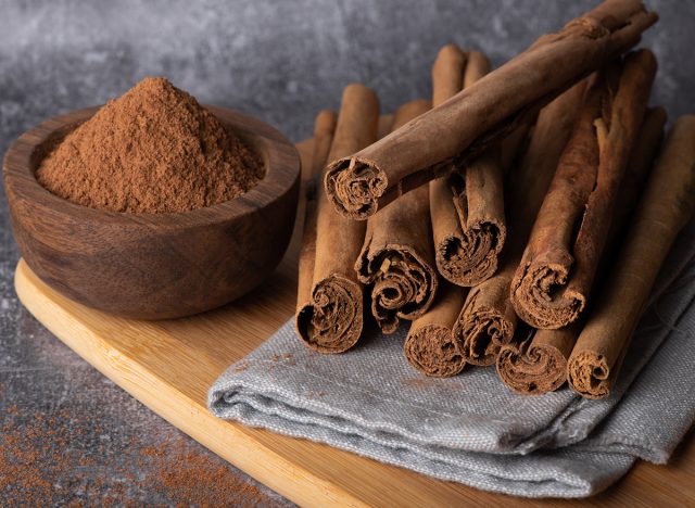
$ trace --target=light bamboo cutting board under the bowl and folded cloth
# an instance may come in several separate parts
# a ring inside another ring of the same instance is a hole
[[[305,154],[309,143],[300,143]],[[296,232],[296,231],[295,231]],[[433,480],[305,440],[213,417],[207,389],[294,312],[296,234],[276,272],[220,309],[169,321],[137,321],[74,303],[21,261],[17,295],[52,333],[157,415],[270,488],[305,506],[685,506],[695,503],[695,441],[671,465],[640,462],[626,479],[583,501],[520,499]]]

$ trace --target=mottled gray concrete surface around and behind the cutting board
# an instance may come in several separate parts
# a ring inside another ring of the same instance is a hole
[[[351,81],[375,88],[383,111],[392,111],[430,94],[440,46],[480,49],[498,65],[595,3],[1,0],[0,153],[36,123],[103,103],[148,75],[299,141]],[[648,5],[661,16],[643,42],[659,59],[653,103],[672,119],[695,110],[695,2]],[[235,497],[235,485],[260,488],[262,504],[286,503],[152,415],[28,315],[12,289],[18,254],[4,201],[0,228],[0,504],[30,496],[187,504],[195,499],[157,479],[191,456],[205,471],[225,468],[227,486],[219,488],[230,488],[232,503],[255,499]],[[175,452],[147,458],[153,445]],[[36,462],[25,470],[45,483],[17,478],[23,460]]]

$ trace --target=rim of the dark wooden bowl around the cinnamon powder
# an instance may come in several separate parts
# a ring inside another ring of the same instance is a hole
[[[60,130],[89,119],[101,106],[74,110],[52,116],[31,127],[12,142],[3,164],[5,193],[37,201],[77,220],[93,220],[111,225],[140,224],[157,228],[187,228],[233,220],[270,205],[289,192],[300,177],[300,157],[295,147],[277,129],[252,116],[235,110],[202,104],[224,125],[231,128],[242,141],[254,150],[266,165],[266,174],[248,192],[231,200],[184,212],[129,213],[73,203],[53,194],[36,179],[33,157],[36,150]],[[251,141],[251,143],[249,143]]]

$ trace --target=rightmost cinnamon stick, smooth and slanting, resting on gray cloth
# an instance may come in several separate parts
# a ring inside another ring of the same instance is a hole
[[[568,381],[582,396],[610,393],[659,268],[694,208],[695,116],[683,116],[669,135],[627,241],[570,355]]]

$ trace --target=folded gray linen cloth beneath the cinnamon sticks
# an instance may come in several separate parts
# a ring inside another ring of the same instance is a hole
[[[367,332],[345,355],[320,355],[301,343],[290,320],[220,376],[208,405],[222,418],[479,488],[592,495],[637,457],[665,462],[695,419],[694,257],[695,221],[669,255],[659,296],[605,399],[567,386],[517,395],[494,368],[426,378],[403,356],[405,332]]]

